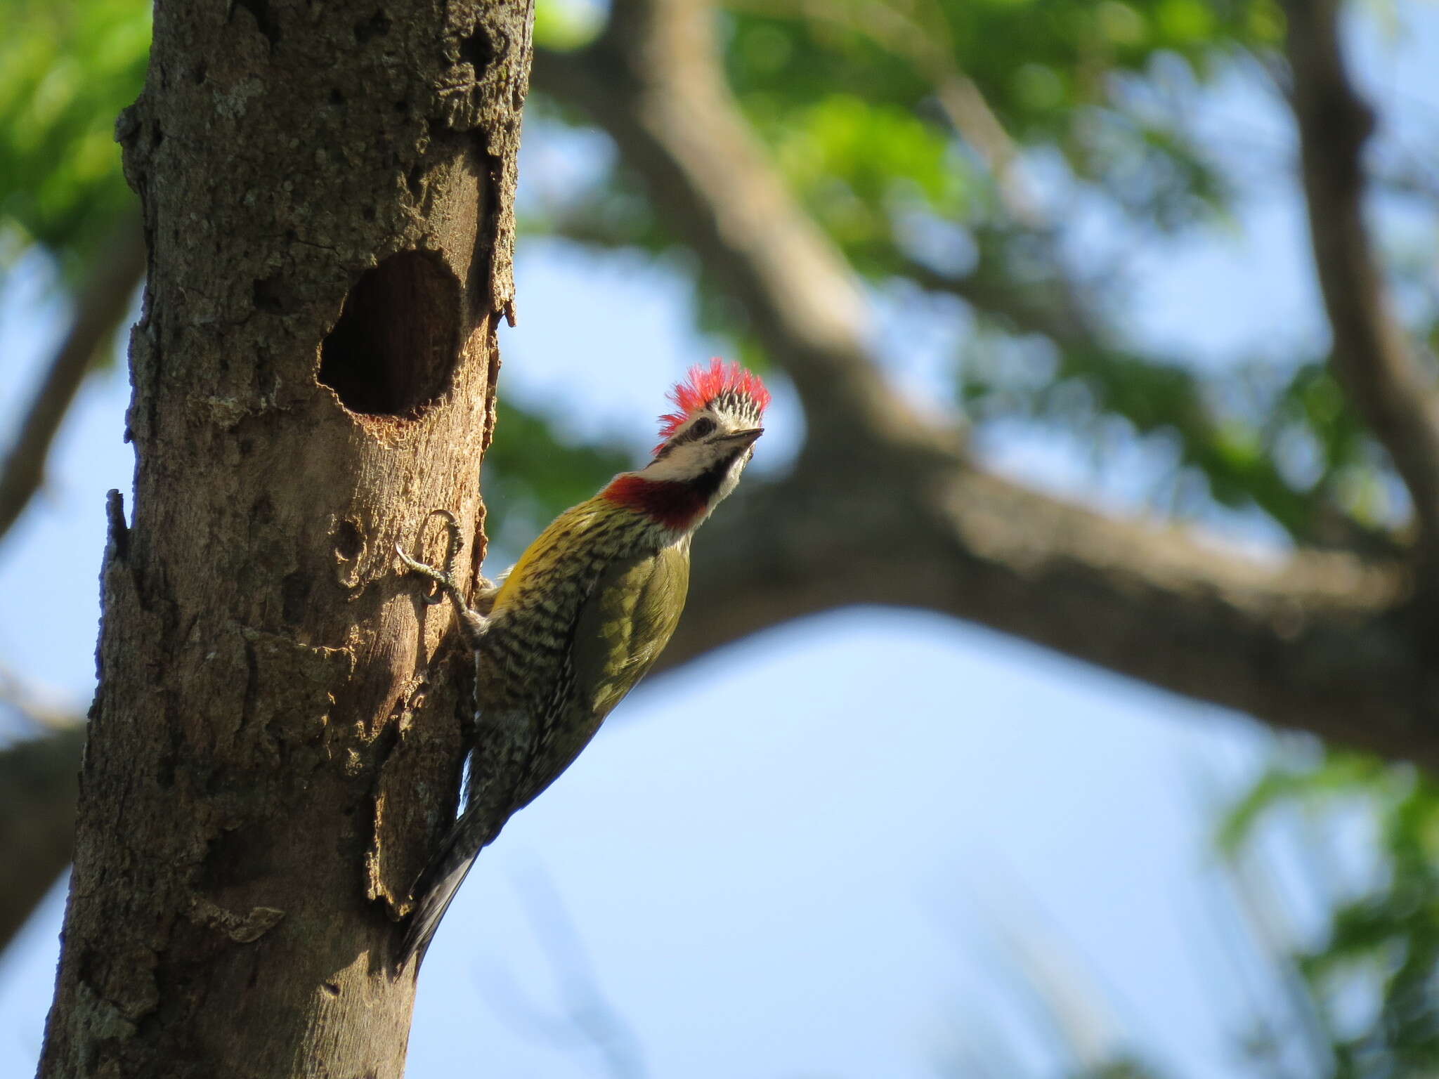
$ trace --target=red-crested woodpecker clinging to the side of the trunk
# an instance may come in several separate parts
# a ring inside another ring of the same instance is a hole
[[[455,580],[450,514],[437,511],[450,537],[443,568],[396,547],[437,586],[427,601],[450,600],[475,652],[466,809],[416,880],[400,968],[423,958],[481,849],[570,767],[679,623],[689,540],[754,456],[770,393],[738,364],[712,360],[669,400],[652,460],[560,514],[498,587],[482,583],[475,607]]]

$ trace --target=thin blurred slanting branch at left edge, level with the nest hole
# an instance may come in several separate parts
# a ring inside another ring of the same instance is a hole
[[[75,314],[0,462],[0,537],[10,531],[45,481],[45,460],[95,354],[111,340],[145,272],[140,214],[130,211],[91,260]]]

